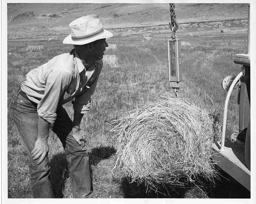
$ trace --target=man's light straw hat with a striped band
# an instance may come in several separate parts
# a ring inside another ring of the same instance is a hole
[[[71,34],[63,40],[63,44],[84,45],[98,39],[113,37],[113,34],[103,29],[98,15],[88,15],[77,18],[69,24]]]

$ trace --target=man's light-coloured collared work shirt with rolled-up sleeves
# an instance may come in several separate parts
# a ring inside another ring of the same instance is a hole
[[[38,115],[53,124],[57,107],[72,99],[75,112],[85,114],[89,111],[102,66],[99,60],[86,70],[73,49],[32,69],[21,89],[31,101],[38,103]]]

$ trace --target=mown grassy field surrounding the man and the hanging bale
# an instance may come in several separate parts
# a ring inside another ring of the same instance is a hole
[[[226,92],[222,79],[239,73],[241,65],[233,63],[232,54],[247,52],[246,29],[221,33],[219,29],[177,33],[178,38],[190,43],[182,48],[182,88],[179,97],[188,98],[209,113],[223,114]],[[115,34],[115,33],[114,33]],[[108,40],[117,50],[106,51],[118,58],[118,68],[104,66],[93,96],[91,111],[82,124],[87,133],[90,152],[90,171],[95,198],[250,198],[250,192],[222,173],[216,184],[205,183],[202,191],[195,186],[161,188],[161,193],[147,192],[143,184],[131,183],[122,177],[115,164],[115,136],[110,130],[113,120],[148,103],[157,102],[160,96],[173,93],[168,82],[167,39],[170,33],[152,33],[153,41],[142,41],[142,34],[122,37],[114,35]],[[26,52],[30,45],[43,45],[42,52]],[[52,57],[68,52],[72,46],[58,41],[8,42],[8,103],[23,82],[28,71]],[[70,117],[71,103],[65,104]],[[228,108],[227,129],[238,129],[237,90],[234,90]],[[56,198],[72,198],[67,162],[61,143],[52,132],[50,165]],[[224,178],[225,177],[225,178]],[[16,126],[8,115],[8,198],[32,198],[29,184],[27,153]]]

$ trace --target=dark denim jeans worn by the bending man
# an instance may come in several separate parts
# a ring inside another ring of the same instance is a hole
[[[51,167],[46,157],[41,164],[31,159],[38,135],[37,104],[19,94],[13,96],[9,112],[17,125],[19,134],[24,142],[29,156],[30,182],[34,198],[54,198],[51,185]],[[66,110],[58,106],[57,119],[51,129],[59,137],[68,162],[71,189],[74,198],[90,198],[91,180],[89,172],[89,156],[86,147],[81,148],[72,136],[72,120]]]

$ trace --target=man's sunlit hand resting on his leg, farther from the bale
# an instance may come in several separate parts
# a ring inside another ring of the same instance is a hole
[[[37,140],[35,141],[34,149],[31,151],[32,159],[38,160],[37,164],[41,164],[44,158],[50,154],[49,146],[47,144],[47,140]]]

